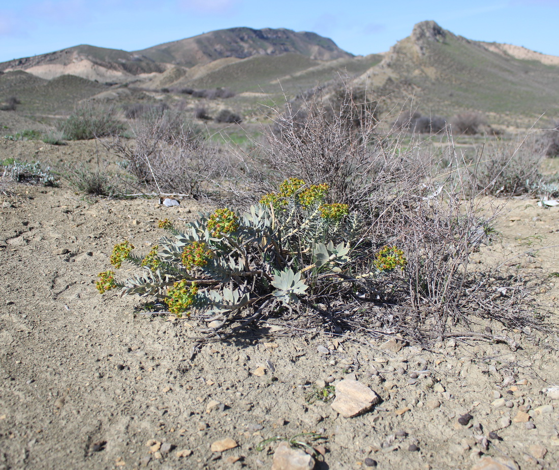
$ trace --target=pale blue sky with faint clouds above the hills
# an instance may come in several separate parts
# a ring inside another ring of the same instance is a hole
[[[559,0],[0,0],[0,61],[78,44],[139,50],[234,26],[314,31],[366,55],[424,20],[559,56],[558,19]]]

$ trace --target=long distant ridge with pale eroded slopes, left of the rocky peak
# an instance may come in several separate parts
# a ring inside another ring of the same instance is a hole
[[[177,66],[179,69],[192,68],[225,58],[245,59],[286,53],[323,61],[352,57],[331,39],[313,32],[243,27],[212,31],[135,52],[79,45],[3,62],[0,71],[25,70],[45,79],[76,75],[99,82],[122,83],[161,74]]]

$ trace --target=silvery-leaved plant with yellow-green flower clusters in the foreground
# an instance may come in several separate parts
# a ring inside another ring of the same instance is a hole
[[[177,316],[196,311],[226,320],[248,307],[298,307],[340,282],[364,286],[383,271],[404,268],[396,247],[375,259],[372,245],[359,243],[356,215],[327,197],[326,184],[290,178],[245,213],[217,209],[183,230],[160,221],[169,236],[146,257],[135,257],[127,241],[113,250],[115,267],[128,260],[143,270],[122,282],[112,271],[101,273],[98,289],[155,296]]]

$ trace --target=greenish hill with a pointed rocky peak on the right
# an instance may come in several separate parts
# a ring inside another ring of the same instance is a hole
[[[358,81],[386,87],[400,102],[413,96],[424,112],[559,113],[559,58],[466,39],[434,21],[415,25]]]

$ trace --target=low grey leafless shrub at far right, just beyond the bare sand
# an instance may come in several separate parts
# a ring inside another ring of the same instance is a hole
[[[541,146],[535,139],[490,142],[470,165],[472,181],[483,194],[537,195],[543,180],[541,160]]]

